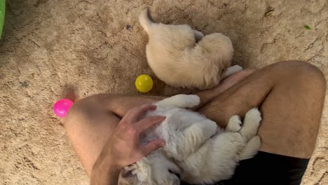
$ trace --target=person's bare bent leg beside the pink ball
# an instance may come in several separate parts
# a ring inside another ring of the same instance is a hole
[[[64,120],[64,127],[78,158],[90,174],[93,164],[121,116],[133,107],[156,102],[156,97],[93,95],[74,104]]]

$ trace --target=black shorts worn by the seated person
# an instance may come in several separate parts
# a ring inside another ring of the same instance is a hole
[[[301,184],[308,160],[259,151],[254,158],[240,161],[231,179],[219,181],[215,185]]]

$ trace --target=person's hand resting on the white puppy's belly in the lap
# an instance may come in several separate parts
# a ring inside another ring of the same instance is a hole
[[[98,160],[108,161],[108,165],[121,169],[164,146],[165,141],[162,139],[153,140],[144,146],[139,144],[140,135],[144,130],[165,119],[163,116],[143,118],[147,111],[155,109],[156,106],[153,104],[144,104],[130,109],[114,129]]]

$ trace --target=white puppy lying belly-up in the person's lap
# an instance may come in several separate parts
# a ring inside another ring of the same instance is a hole
[[[128,184],[210,184],[229,179],[239,160],[252,158],[261,146],[257,129],[261,114],[251,109],[243,123],[232,116],[225,130],[194,111],[184,108],[200,103],[197,95],[175,95],[157,102],[146,116],[166,116],[144,132],[141,144],[164,139],[166,145],[132,165],[121,177]]]

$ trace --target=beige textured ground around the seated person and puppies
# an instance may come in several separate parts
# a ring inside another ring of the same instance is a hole
[[[242,67],[304,60],[328,77],[324,0],[8,1],[0,46],[0,184],[88,184],[52,106],[62,97],[138,94],[136,76],[153,76],[137,22],[145,6],[158,22],[228,35],[233,62]],[[188,90],[155,78],[149,95],[176,93]],[[328,184],[327,121],[326,101],[303,184]]]

